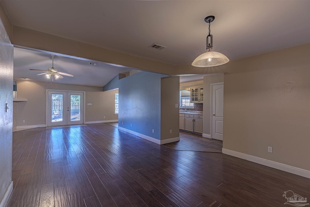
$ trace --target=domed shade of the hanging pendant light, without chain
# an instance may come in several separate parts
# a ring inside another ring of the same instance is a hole
[[[219,52],[207,51],[198,56],[192,63],[195,67],[212,67],[228,63],[229,59]]]

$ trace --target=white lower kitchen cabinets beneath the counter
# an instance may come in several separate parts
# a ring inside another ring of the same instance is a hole
[[[180,129],[202,134],[203,115],[180,113]]]

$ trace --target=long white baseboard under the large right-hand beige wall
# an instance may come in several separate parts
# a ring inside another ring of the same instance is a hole
[[[255,156],[252,156],[252,155],[244,154],[244,153],[241,153],[241,152],[236,152],[236,151],[233,151],[233,150],[230,150],[230,149],[225,149],[225,148],[222,148],[222,153],[226,154],[226,155],[231,155],[231,156],[236,157],[236,158],[246,159],[246,160],[251,161],[251,162],[255,162],[255,163],[258,163],[258,164],[261,164],[261,165],[272,167],[272,168],[275,168],[275,169],[278,169],[278,170],[282,170],[282,171],[285,171],[285,172],[288,172],[288,173],[292,173],[292,174],[295,174],[295,175],[300,175],[300,176],[303,176],[303,177],[310,178],[310,171],[309,170],[304,170],[304,169],[301,169],[301,168],[293,167],[293,166],[290,166],[290,165],[282,164],[282,163],[275,162],[275,161],[268,160],[268,159],[263,159],[263,158],[255,157]]]

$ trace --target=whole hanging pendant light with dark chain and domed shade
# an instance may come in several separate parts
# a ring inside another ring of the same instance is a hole
[[[214,19],[215,16],[207,16],[204,18],[204,21],[209,23],[209,35],[206,38],[207,52],[201,54],[193,61],[192,65],[195,67],[212,67],[229,62],[229,59],[222,53],[211,51],[213,48],[213,39],[212,34],[210,34],[210,23],[213,22]]]

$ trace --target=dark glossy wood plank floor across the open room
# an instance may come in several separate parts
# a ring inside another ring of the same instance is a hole
[[[310,199],[310,179],[108,124],[14,132],[12,173],[8,207],[281,207],[288,190]]]

